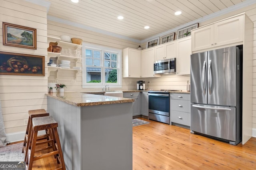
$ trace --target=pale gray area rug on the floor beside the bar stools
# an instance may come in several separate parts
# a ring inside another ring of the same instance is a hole
[[[17,143],[0,148],[0,162],[24,161],[22,146],[23,143]]]

